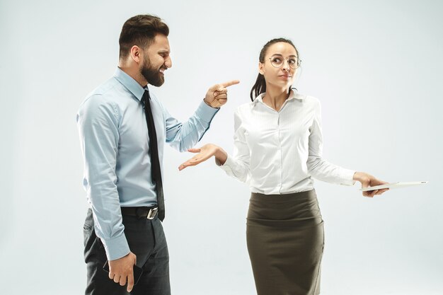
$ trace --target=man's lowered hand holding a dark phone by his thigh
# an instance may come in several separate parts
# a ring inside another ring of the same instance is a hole
[[[134,270],[133,267],[137,262],[137,257],[130,252],[126,256],[117,260],[109,261],[109,278],[120,286],[125,286],[127,282],[127,291],[132,291],[134,287]]]

